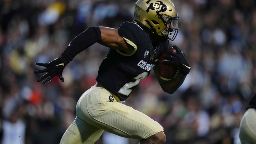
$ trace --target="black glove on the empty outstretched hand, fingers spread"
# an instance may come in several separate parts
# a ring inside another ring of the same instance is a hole
[[[59,76],[60,81],[64,82],[64,78],[62,77],[62,72],[66,64],[61,60],[60,57],[49,62],[49,63],[35,63],[37,66],[45,66],[45,69],[40,69],[34,71],[35,74],[47,72],[45,75],[37,79],[37,82],[43,80],[43,84],[51,81],[57,75]]]

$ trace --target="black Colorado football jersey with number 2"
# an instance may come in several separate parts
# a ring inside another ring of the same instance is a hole
[[[169,49],[169,42],[154,47],[146,31],[133,22],[124,22],[118,28],[123,39],[134,47],[132,54],[109,49],[102,61],[96,80],[117,96],[127,99],[140,81],[147,78],[157,64],[159,56]]]

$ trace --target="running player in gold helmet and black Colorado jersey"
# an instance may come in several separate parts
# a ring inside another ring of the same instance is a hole
[[[45,69],[37,81],[49,82],[58,75],[64,82],[64,67],[80,52],[98,42],[109,47],[102,61],[97,83],[83,93],[76,105],[76,118],[64,133],[61,144],[91,144],[106,130],[110,133],[140,139],[140,144],[162,144],[166,140],[163,127],[147,115],[122,104],[143,78],[147,78],[157,60],[170,48],[178,32],[176,9],[170,0],[138,0],[134,22],[124,22],[118,30],[108,27],[89,27],[76,36],[57,59],[36,63]],[[177,46],[176,53],[166,54],[164,63],[180,68],[178,76],[170,81],[159,78],[161,88],[170,94],[183,83],[190,71],[185,55]]]

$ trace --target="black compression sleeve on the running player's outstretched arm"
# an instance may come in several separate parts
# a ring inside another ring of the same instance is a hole
[[[68,64],[77,54],[101,40],[99,27],[89,27],[76,36],[61,54],[60,58]]]

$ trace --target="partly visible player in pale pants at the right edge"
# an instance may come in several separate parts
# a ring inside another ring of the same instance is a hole
[[[256,94],[251,98],[249,106],[240,122],[239,138],[242,144],[256,143]]]

